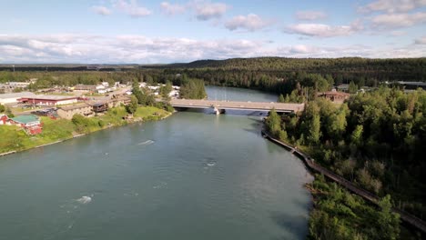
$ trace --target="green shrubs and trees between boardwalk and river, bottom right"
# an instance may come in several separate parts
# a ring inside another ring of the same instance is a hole
[[[391,212],[390,195],[379,206],[371,205],[323,175],[316,175],[307,188],[314,200],[308,239],[422,239],[400,225],[399,215]]]

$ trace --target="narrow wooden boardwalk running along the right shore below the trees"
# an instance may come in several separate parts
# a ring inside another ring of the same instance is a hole
[[[331,172],[330,170],[317,165],[315,163],[315,161],[309,157],[309,155],[301,152],[299,149],[293,147],[292,145],[288,145],[285,143],[282,143],[281,141],[275,139],[274,137],[272,137],[271,135],[269,135],[266,131],[262,130],[262,135],[264,135],[266,138],[268,138],[270,141],[272,141],[273,143],[277,144],[277,145],[281,145],[283,147],[285,147],[286,149],[288,149],[290,152],[292,152],[294,155],[298,156],[303,163],[309,168],[309,170],[320,173],[322,175],[325,175],[326,177],[328,177],[330,180],[344,186],[345,188],[347,188],[348,190],[350,190],[350,192],[356,194],[356,195],[360,195],[361,197],[363,197],[364,199],[370,201],[373,204],[377,204],[378,201],[380,200],[380,198],[377,195],[373,195],[371,194],[369,191],[366,191],[356,185],[353,185],[350,181],[346,180],[344,177],[340,176],[340,175],[336,175],[333,172]],[[421,232],[423,232],[423,234],[426,234],[426,223],[421,220],[419,217],[415,216],[415,215],[411,215],[399,208],[396,207],[392,207],[392,211],[394,213],[397,213],[401,216],[401,220],[416,227],[417,229],[421,230]]]

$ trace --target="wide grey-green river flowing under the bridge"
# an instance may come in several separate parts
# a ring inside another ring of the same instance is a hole
[[[311,176],[260,118],[179,112],[2,157],[0,239],[304,239]]]

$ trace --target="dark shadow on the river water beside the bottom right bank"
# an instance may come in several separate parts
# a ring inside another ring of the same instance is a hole
[[[279,227],[284,229],[293,237],[291,239],[304,239],[308,235],[308,217],[304,215],[289,215],[286,213],[274,212],[270,218]],[[301,237],[304,236],[304,237]],[[288,236],[275,237],[273,239],[289,239]]]

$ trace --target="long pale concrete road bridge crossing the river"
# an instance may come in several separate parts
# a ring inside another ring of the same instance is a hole
[[[305,104],[284,104],[284,103],[263,103],[263,102],[236,102],[236,101],[216,101],[197,99],[172,99],[170,105],[182,108],[212,108],[217,115],[225,110],[249,110],[249,111],[270,111],[275,108],[279,113],[298,113],[303,111]]]

